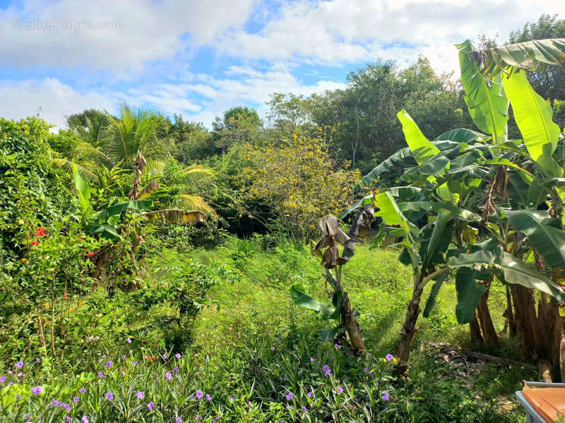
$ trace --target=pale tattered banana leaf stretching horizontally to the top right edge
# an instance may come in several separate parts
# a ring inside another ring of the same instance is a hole
[[[565,38],[536,39],[477,51],[483,73],[496,75],[512,68],[531,69],[539,63],[565,66]]]

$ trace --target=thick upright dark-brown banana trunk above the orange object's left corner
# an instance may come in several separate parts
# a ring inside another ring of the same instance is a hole
[[[533,290],[520,285],[513,285],[511,290],[521,357],[523,360],[535,358],[539,341],[537,341],[537,317]]]

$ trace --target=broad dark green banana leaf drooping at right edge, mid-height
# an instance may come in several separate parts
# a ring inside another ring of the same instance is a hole
[[[506,210],[510,223],[528,235],[528,240],[552,267],[565,266],[565,231],[561,219],[552,218],[538,210]]]

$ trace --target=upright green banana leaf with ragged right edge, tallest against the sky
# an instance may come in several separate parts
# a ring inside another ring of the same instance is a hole
[[[502,85],[487,81],[480,72],[479,63],[472,54],[469,40],[458,44],[461,82],[465,88],[465,103],[477,128],[492,135],[494,144],[506,141],[509,101],[502,95]]]

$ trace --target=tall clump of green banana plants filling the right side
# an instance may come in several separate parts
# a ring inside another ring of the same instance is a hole
[[[434,281],[424,309],[427,317],[451,271],[456,272],[460,323],[475,319],[477,305],[494,278],[510,287],[523,355],[535,358],[547,371],[565,354],[559,317],[565,293],[558,283],[565,266],[563,146],[551,107],[520,70],[538,62],[565,63],[565,39],[483,51],[464,42],[458,49],[465,102],[484,133],[450,130],[430,142],[400,111],[408,148],[364,176],[362,185],[410,156],[417,166],[401,177],[408,185],[371,192],[343,216],[374,204],[382,227],[400,240],[400,260],[412,266],[414,290],[400,331],[398,372],[405,373],[408,366],[424,287]],[[509,105],[521,131],[519,140],[508,139]],[[472,207],[475,192],[484,193],[478,203],[481,215]],[[485,230],[487,237],[481,237]],[[534,288],[539,292],[537,316]],[[545,376],[549,379],[549,372]]]

